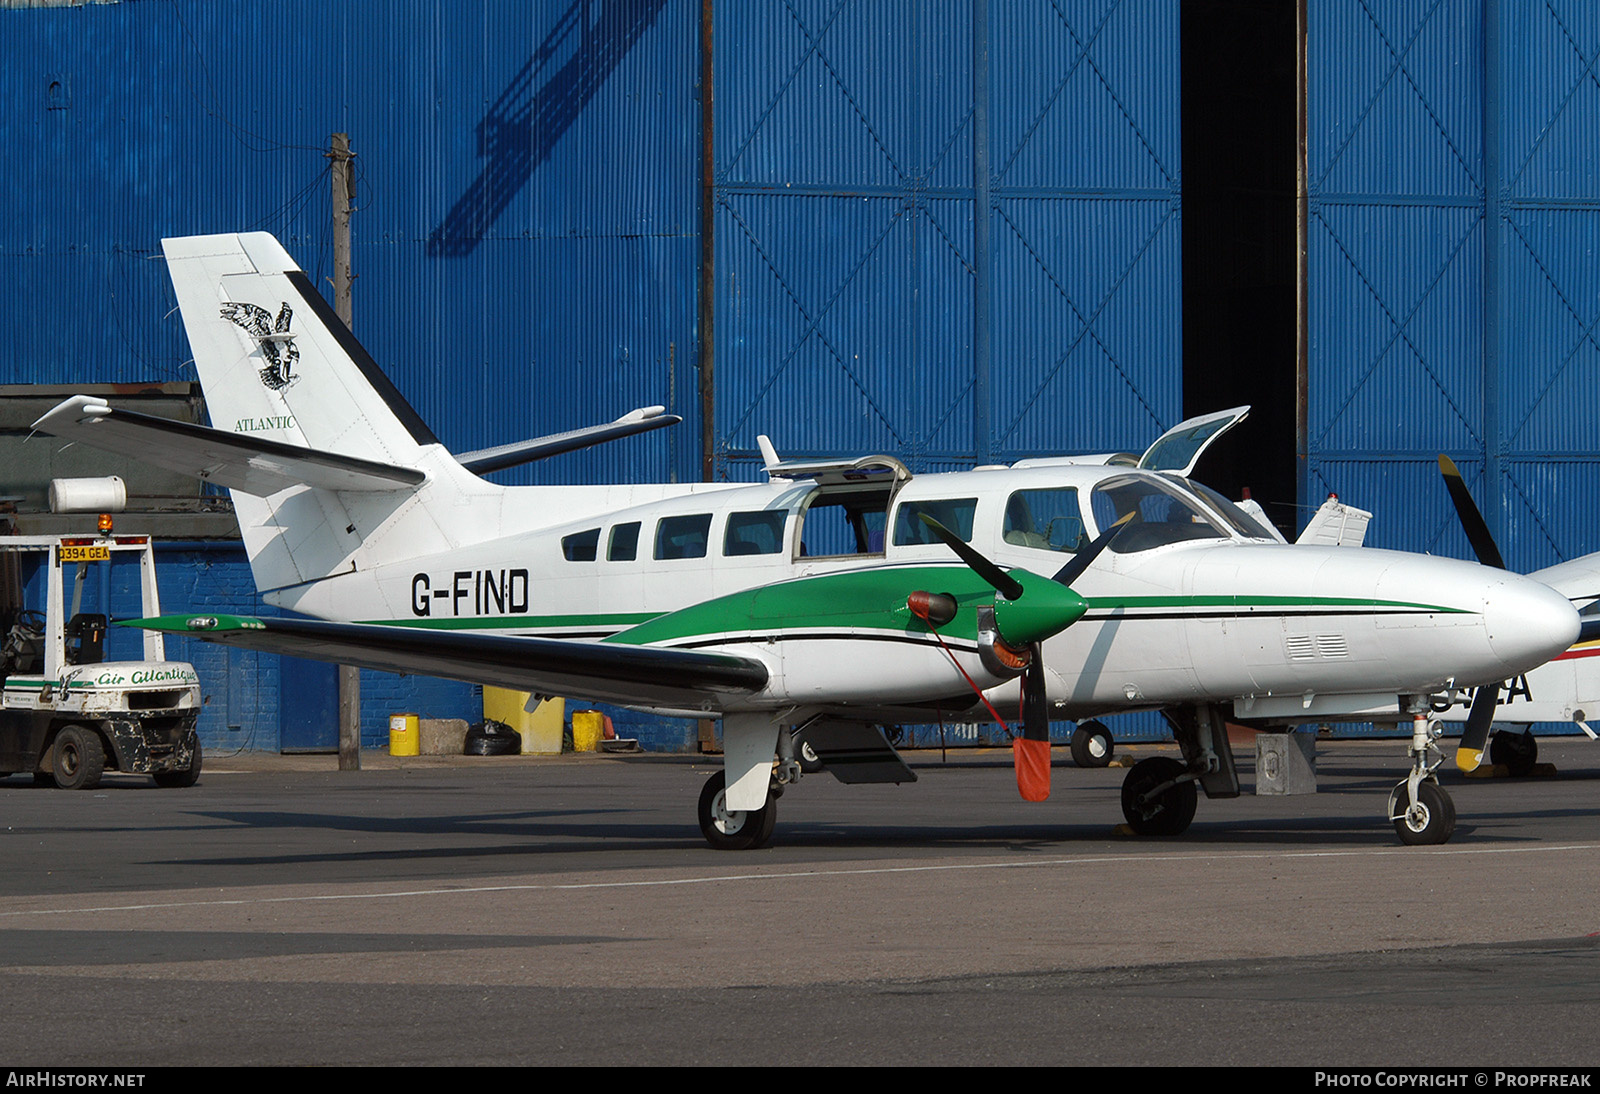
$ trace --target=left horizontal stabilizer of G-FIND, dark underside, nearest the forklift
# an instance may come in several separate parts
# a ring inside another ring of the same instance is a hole
[[[93,395],[74,395],[34,422],[34,429],[258,497],[299,485],[339,491],[410,489],[426,478],[414,467],[114,409]]]

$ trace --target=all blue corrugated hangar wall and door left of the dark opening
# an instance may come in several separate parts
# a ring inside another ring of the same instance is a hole
[[[714,11],[720,473],[755,473],[758,432],[939,470],[1138,448],[1181,416],[1176,3]],[[323,283],[342,131],[355,329],[446,445],[664,403],[683,427],[501,478],[699,478],[699,21],[698,0],[0,8],[21,302],[0,382],[192,379],[163,235],[266,229]],[[237,550],[170,558],[168,605],[259,611]],[[221,677],[208,744],[264,744],[272,659],[190,656]],[[368,675],[370,729],[406,694],[475,717],[461,688],[390,685]]]

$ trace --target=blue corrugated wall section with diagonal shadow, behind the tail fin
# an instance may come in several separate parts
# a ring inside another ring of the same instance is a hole
[[[160,237],[266,229],[322,283],[323,152],[346,131],[355,329],[446,445],[693,414],[698,19],[666,0],[0,11],[0,261],[50,302],[0,333],[6,379],[192,379]],[[698,477],[691,438],[520,473]]]

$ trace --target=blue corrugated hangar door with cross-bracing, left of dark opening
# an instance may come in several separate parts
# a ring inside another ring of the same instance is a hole
[[[1181,417],[1178,8],[715,6],[715,443],[914,469]]]

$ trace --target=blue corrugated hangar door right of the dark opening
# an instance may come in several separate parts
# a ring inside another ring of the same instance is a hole
[[[1600,10],[1312,0],[1302,504],[1470,557],[1435,456],[1507,563],[1600,549]]]

